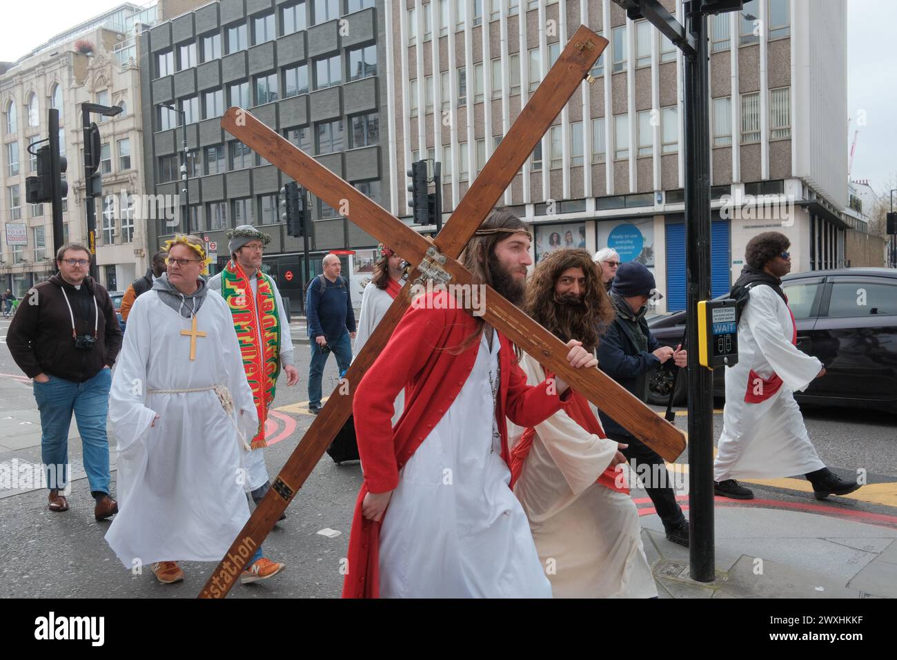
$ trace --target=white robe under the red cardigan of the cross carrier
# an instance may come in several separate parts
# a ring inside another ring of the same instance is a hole
[[[411,459],[379,535],[384,598],[550,598],[527,515],[508,488],[510,471],[493,442],[492,351],[480,340],[457,399]]]

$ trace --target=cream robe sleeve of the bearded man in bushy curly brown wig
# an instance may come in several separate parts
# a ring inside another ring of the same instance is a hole
[[[520,368],[527,374],[527,383],[535,385],[544,381],[542,366],[531,356],[523,356]],[[610,466],[617,452],[617,444],[613,440],[588,433],[563,410],[535,428],[574,495],[579,495],[594,484]]]

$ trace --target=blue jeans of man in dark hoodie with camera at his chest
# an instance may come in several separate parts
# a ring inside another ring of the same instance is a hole
[[[62,490],[68,483],[68,427],[74,411],[83,446],[84,471],[91,490],[109,493],[106,413],[111,384],[109,369],[100,369],[84,383],[57,376],[49,376],[47,383],[34,381],[34,398],[40,411],[40,460],[47,471],[48,488]]]

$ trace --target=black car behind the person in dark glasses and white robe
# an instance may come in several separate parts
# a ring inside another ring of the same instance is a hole
[[[897,270],[814,270],[783,277],[782,289],[797,321],[797,348],[825,366],[822,378],[795,392],[798,403],[897,413]],[[685,312],[652,317],[648,325],[661,344],[675,348]],[[725,396],[724,379],[723,368],[714,370],[717,396]],[[676,405],[684,405],[685,380],[684,374],[676,380]],[[665,405],[672,384],[671,370],[651,374],[649,402]]]

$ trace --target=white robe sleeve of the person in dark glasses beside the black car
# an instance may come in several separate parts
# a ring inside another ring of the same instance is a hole
[[[772,370],[789,389],[800,392],[819,374],[823,364],[792,344],[790,333],[786,337],[782,332],[779,304],[785,303],[770,286],[757,286],[751,289],[743,320]]]

